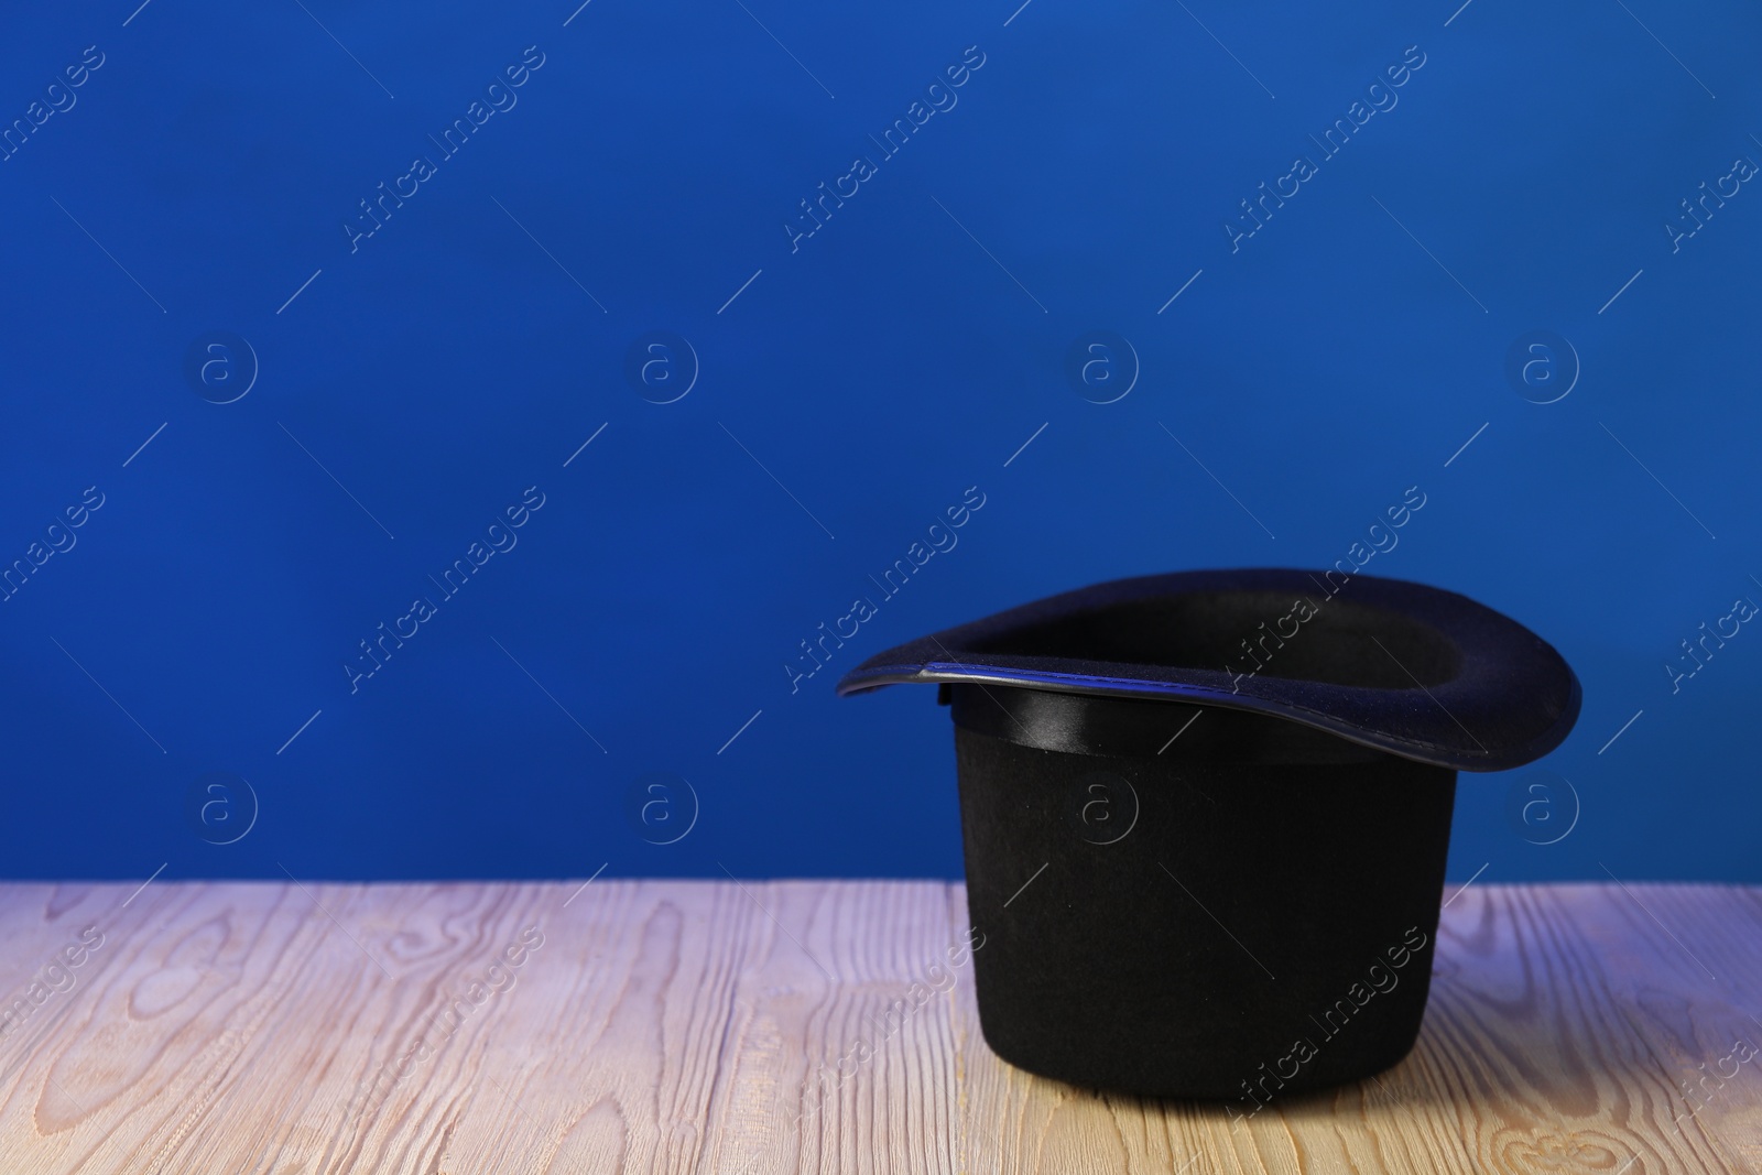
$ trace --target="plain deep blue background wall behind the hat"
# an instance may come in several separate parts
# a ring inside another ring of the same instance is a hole
[[[1762,881],[1762,634],[1663,669],[1762,601],[1762,194],[1663,227],[1762,160],[1758,35],[1655,0],[11,11],[0,120],[104,63],[0,162],[0,558],[104,504],[0,604],[0,870],[959,876],[946,712],[837,673],[1114,576],[1327,565],[1417,484],[1367,571],[1584,682],[1559,750],[1461,779],[1452,877]],[[351,250],[527,46],[516,106]],[[791,248],[967,46],[959,102]],[[1096,329],[1138,366],[1105,405],[1066,375]],[[1507,375],[1536,329],[1581,368],[1545,405]],[[208,331],[255,352],[236,402],[185,375]],[[648,331],[696,354],[673,403],[626,379]],[[518,546],[351,692],[527,486]],[[969,486],[959,546],[791,692]],[[652,773],[691,791],[645,823]]]

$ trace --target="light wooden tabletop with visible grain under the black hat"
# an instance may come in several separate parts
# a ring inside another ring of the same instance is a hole
[[[1762,1171],[1762,890],[1471,886],[1413,1055],[1237,1127],[992,1057],[971,965],[929,969],[964,916],[941,883],[4,886],[0,1171]]]

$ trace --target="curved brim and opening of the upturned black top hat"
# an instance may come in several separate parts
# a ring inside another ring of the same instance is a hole
[[[1462,772],[1538,759],[1581,706],[1566,661],[1484,604],[1284,567],[1050,595],[876,654],[837,691],[939,682],[1247,710]]]

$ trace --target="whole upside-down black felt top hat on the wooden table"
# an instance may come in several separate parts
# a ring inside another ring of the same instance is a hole
[[[1547,754],[1579,715],[1517,622],[1337,571],[1099,583],[890,648],[839,692],[900,682],[953,706],[990,1046],[1249,1117],[1408,1053],[1455,772]]]

